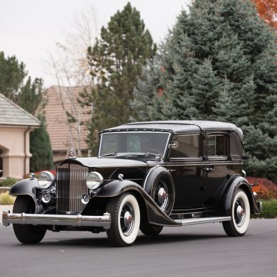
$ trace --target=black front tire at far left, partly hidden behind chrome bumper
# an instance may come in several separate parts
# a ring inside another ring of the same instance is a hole
[[[31,197],[18,195],[13,205],[13,213],[33,214],[35,205]],[[40,226],[13,224],[13,232],[22,244],[38,244],[45,236],[46,229]]]

